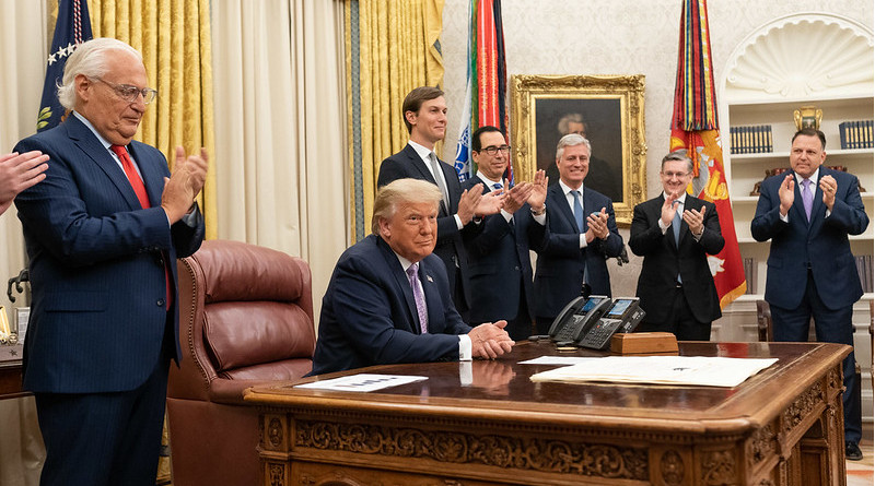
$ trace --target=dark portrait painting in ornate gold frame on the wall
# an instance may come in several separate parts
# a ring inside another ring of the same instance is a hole
[[[644,75],[516,74],[511,99],[516,179],[544,168],[556,183],[556,144],[583,127],[593,145],[584,186],[611,198],[617,225],[629,226],[648,192]]]

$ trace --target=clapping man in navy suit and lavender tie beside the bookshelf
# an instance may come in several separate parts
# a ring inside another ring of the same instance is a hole
[[[807,341],[815,321],[817,340],[853,346],[853,305],[863,295],[848,235],[868,226],[856,177],[824,167],[826,138],[803,129],[793,135],[789,170],[760,188],[750,234],[771,239],[766,301],[775,341]],[[860,381],[854,354],[844,358],[845,455],[863,459]]]

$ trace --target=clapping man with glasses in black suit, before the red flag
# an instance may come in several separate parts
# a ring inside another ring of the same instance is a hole
[[[629,248],[644,257],[637,295],[648,312],[639,331],[672,332],[680,341],[708,341],[720,298],[708,265],[725,241],[714,203],[687,193],[692,161],[682,152],[663,157],[663,193],[635,205]]]

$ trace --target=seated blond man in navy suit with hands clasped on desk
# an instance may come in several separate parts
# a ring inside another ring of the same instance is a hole
[[[511,351],[506,322],[471,329],[453,306],[444,263],[432,254],[440,201],[436,186],[417,179],[377,192],[373,234],[340,256],[323,298],[313,375]]]

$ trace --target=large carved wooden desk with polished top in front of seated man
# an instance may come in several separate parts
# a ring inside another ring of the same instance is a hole
[[[681,355],[777,357],[732,389],[533,383],[518,365],[547,343],[494,361],[381,366],[428,376],[373,393],[255,387],[262,477],[280,485],[843,485],[842,370],[849,346],[681,343]],[[572,352],[572,355],[598,355]],[[313,381],[306,379],[303,381]],[[302,382],[303,382],[302,381]]]

